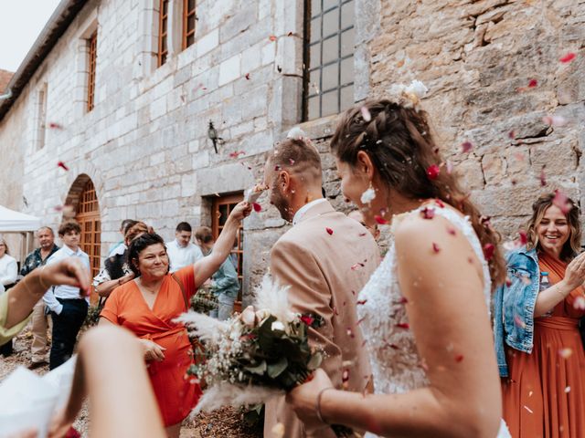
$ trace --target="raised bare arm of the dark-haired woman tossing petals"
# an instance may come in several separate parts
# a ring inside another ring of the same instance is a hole
[[[224,224],[221,234],[218,237],[213,251],[195,262],[195,286],[200,287],[207,278],[219,269],[219,266],[228,258],[239,229],[239,223],[250,215],[252,206],[250,203],[242,201],[234,207],[229,214],[226,224]]]

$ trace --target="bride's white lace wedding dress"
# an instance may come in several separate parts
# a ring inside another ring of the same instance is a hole
[[[485,278],[484,297],[489,309],[491,294],[489,268],[484,259],[482,245],[472,225],[467,218],[463,218],[449,208],[437,206],[434,210],[436,215],[445,217],[467,237],[473,251],[481,261]],[[419,213],[420,208],[407,214]],[[392,227],[396,227],[407,214],[396,216]],[[367,339],[375,392],[377,394],[401,393],[427,386],[429,381],[420,363],[416,339],[407,329],[408,318],[396,273],[394,245],[390,245],[388,254],[357,299],[364,302],[357,307],[357,313],[362,319],[360,327],[364,339]],[[376,436],[367,433],[365,438]],[[510,433],[505,422],[502,421],[500,431],[495,438],[507,437],[510,437]]]

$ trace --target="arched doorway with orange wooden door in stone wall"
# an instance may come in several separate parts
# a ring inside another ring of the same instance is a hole
[[[80,246],[90,256],[91,277],[97,276],[100,272],[101,255],[100,204],[88,175],[81,174],[71,184],[66,204],[72,205],[75,209],[75,220],[81,227]],[[97,299],[97,295],[92,291],[91,302],[94,303]]]

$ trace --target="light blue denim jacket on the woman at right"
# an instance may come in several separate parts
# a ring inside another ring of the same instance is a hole
[[[532,352],[534,307],[540,286],[536,249],[516,249],[505,255],[505,260],[511,283],[498,287],[494,298],[494,343],[501,377],[508,375],[504,342],[513,349]]]

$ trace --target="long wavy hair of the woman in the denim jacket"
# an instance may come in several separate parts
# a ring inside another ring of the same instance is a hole
[[[532,217],[527,222],[527,249],[540,249],[538,242],[537,226],[542,222],[545,213],[553,204],[555,193],[543,194],[532,204]],[[566,200],[567,210],[563,212],[569,223],[570,235],[565,245],[560,250],[560,259],[570,262],[579,255],[581,250],[581,224],[579,220],[579,207],[570,198]],[[569,208],[570,206],[570,208]]]

